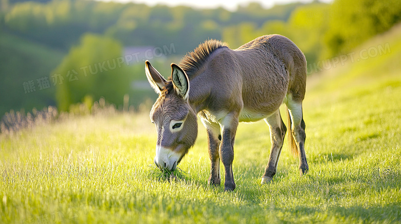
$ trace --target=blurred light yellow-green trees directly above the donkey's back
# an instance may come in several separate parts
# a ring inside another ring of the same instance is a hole
[[[322,3],[298,6],[287,21],[268,20],[260,27],[256,23],[240,23],[224,28],[222,37],[236,48],[261,35],[281,34],[293,40],[304,52],[307,62],[314,63],[326,53],[321,37],[327,30],[329,10],[330,5]]]

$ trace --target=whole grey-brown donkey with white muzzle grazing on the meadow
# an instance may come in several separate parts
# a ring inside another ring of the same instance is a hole
[[[234,139],[239,122],[264,119],[270,128],[271,150],[261,184],[272,180],[287,131],[279,107],[285,103],[289,146],[299,156],[301,175],[307,173],[302,100],[306,59],[287,37],[265,35],[231,50],[218,40],[207,40],[187,53],[180,65],[171,64],[166,80],[145,62],[150,85],[159,94],[150,112],[157,130],[154,162],[161,170],[175,170],[194,145],[197,118],[207,130],[211,170],[208,184],[234,190]]]

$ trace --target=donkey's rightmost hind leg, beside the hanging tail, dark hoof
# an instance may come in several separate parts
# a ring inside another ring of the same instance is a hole
[[[296,145],[297,145],[297,150],[298,150],[298,156],[299,156],[299,171],[302,174],[305,174],[308,172],[309,167],[306,161],[306,155],[305,155],[305,122],[303,121],[303,115],[302,115],[302,101],[298,102],[292,99],[291,97],[288,97],[287,101],[287,107],[288,107],[288,112],[291,116],[291,133],[294,136]]]

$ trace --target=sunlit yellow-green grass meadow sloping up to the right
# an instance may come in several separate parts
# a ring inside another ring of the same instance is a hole
[[[284,145],[274,180],[259,184],[270,148],[263,122],[240,125],[236,189],[224,192],[207,185],[200,123],[178,166],[185,173],[169,179],[153,165],[147,114],[71,116],[0,135],[0,222],[401,222],[400,33],[361,48],[389,43],[391,53],[309,77],[305,176]]]

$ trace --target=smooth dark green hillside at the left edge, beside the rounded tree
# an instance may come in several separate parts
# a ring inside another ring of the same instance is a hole
[[[65,52],[53,50],[2,31],[0,35],[0,117],[10,108],[26,111],[54,105],[54,87],[50,72],[57,67]],[[50,88],[40,90],[38,78],[48,77]],[[35,91],[25,93],[23,83],[33,80]]]

